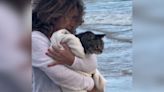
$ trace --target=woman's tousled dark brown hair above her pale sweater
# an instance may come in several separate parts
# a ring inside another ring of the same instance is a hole
[[[79,16],[82,16],[83,2],[81,0],[40,0],[32,13],[32,30],[40,31],[50,37],[57,20],[66,16],[72,9],[77,9]]]

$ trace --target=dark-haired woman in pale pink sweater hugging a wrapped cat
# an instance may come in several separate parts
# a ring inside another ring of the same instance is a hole
[[[52,33],[64,28],[74,34],[75,29],[83,23],[83,13],[81,0],[40,0],[33,10],[33,92],[61,92],[60,87],[75,92],[93,89],[94,82],[91,77],[80,75],[64,65],[91,72],[96,69],[96,65],[92,65],[96,64],[94,55],[82,60],[75,57],[65,44],[64,50],[49,48]],[[58,61],[60,65],[47,65],[47,62],[53,60]]]

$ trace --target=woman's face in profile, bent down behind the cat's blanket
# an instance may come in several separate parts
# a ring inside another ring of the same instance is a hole
[[[72,34],[76,33],[76,28],[83,23],[83,16],[78,13],[77,9],[71,10],[66,16],[61,17],[56,29],[67,29]]]

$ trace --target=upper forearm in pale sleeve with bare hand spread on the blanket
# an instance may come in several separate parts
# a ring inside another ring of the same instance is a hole
[[[51,64],[54,66],[57,64],[67,64],[76,71],[83,71],[86,73],[92,73],[97,68],[97,58],[95,54],[86,55],[84,59],[74,56],[71,50],[66,44],[61,43],[64,50],[58,50],[55,48],[49,48],[47,55],[57,60],[57,63]]]

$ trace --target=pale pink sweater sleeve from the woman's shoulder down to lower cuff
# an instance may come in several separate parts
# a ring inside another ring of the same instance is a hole
[[[55,84],[59,86],[71,90],[91,90],[94,86],[91,77],[80,75],[64,65],[47,67],[48,63],[53,61],[50,57],[45,55],[49,43],[42,37],[32,37],[33,66],[40,68]]]

